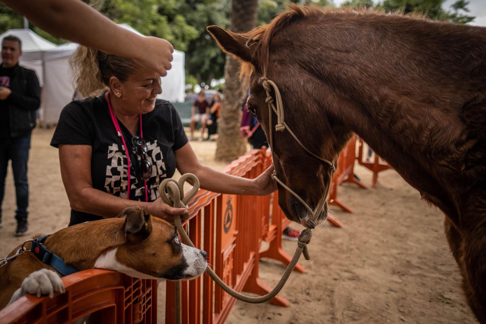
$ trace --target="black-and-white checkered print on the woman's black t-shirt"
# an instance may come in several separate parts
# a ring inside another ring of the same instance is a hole
[[[157,145],[157,141],[147,142],[147,154],[145,159],[152,163],[152,175],[147,179],[147,190],[149,201],[153,201],[158,198],[158,184],[167,177],[164,157],[160,151],[160,147]],[[140,160],[140,157],[137,156]],[[137,200],[145,201],[145,186],[139,183],[137,177],[135,177],[134,170],[137,170],[137,166],[130,165],[130,199],[137,198]],[[104,183],[104,190],[114,196],[120,198],[127,197],[127,157],[125,154],[125,147],[113,143],[108,146],[108,163],[106,164],[106,178]]]

